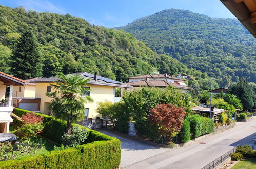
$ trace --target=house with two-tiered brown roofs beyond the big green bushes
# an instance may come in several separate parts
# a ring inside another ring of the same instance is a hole
[[[141,87],[159,87],[164,88],[168,86],[173,86],[183,93],[192,90],[185,83],[185,79],[174,77],[174,75],[165,74],[147,74],[142,76],[130,77],[127,85],[131,85],[134,89]]]

